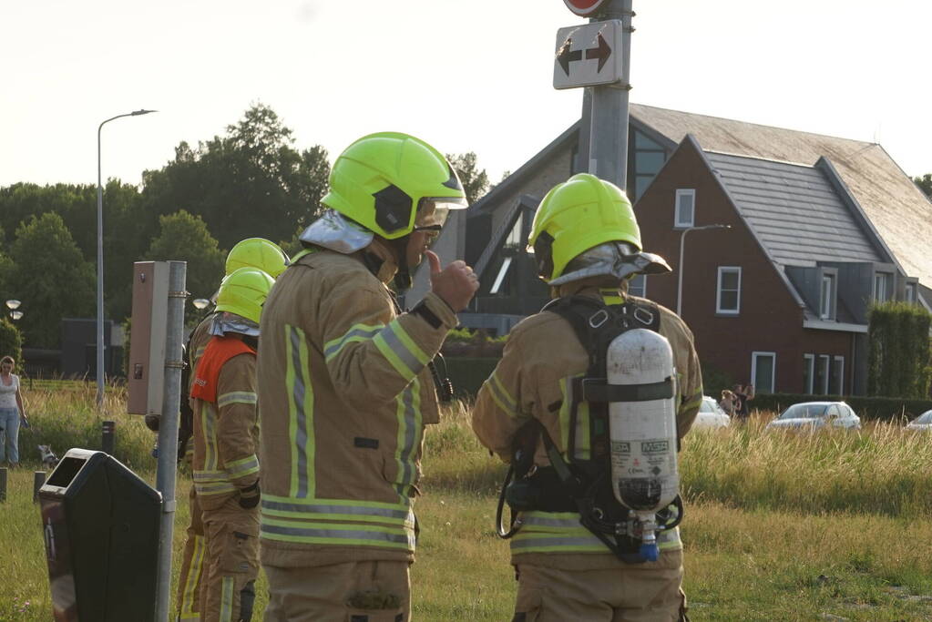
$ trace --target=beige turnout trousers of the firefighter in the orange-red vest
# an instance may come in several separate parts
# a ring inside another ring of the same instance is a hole
[[[200,581],[201,622],[253,619],[259,575],[259,508],[243,509],[231,496],[215,509],[203,508],[204,568]]]

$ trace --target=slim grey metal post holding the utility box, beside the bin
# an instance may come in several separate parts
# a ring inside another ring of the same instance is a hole
[[[185,330],[185,262],[169,262],[169,304],[165,337],[165,386],[158,426],[156,489],[162,494],[158,533],[156,621],[168,622],[171,602],[171,544],[178,456],[178,409],[181,404],[182,341]]]

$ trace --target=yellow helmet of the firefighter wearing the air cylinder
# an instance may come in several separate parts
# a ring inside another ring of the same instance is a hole
[[[538,274],[550,282],[563,274],[573,258],[612,241],[641,250],[631,201],[614,183],[579,173],[543,197],[534,214],[528,250],[534,251]]]

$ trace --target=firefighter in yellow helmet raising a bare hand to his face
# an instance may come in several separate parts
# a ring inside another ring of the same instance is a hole
[[[349,145],[329,182],[262,316],[265,619],[407,620],[429,367],[478,287],[427,248],[466,199],[440,152],[394,132]],[[387,284],[424,254],[432,290],[402,312]]]

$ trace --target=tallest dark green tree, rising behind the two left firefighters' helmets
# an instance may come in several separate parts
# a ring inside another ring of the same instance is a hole
[[[220,247],[245,237],[288,239],[319,210],[330,165],[321,146],[294,148],[292,130],[254,104],[226,135],[192,148],[182,142],[163,169],[144,172],[144,204],[164,215],[183,209],[207,223]]]

